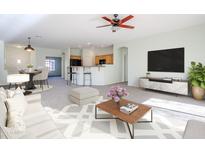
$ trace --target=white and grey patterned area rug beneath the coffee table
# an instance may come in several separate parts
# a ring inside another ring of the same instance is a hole
[[[94,104],[82,106],[71,104],[61,111],[49,107],[45,109],[66,138],[130,138],[126,123],[114,119],[95,119]],[[98,116],[110,116],[102,111],[98,113]],[[146,115],[143,119],[148,118],[149,115]],[[135,124],[135,138],[181,138],[184,128],[176,128],[172,122],[154,110],[152,123]]]

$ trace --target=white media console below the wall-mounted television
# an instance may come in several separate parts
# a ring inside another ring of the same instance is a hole
[[[139,86],[145,89],[164,91],[180,95],[188,95],[189,93],[188,81],[186,80],[142,77],[139,79]]]

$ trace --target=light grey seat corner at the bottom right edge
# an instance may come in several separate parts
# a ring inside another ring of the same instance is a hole
[[[189,120],[187,122],[184,139],[205,139],[205,122]]]

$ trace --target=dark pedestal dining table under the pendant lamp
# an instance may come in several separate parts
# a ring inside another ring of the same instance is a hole
[[[37,70],[37,69],[32,70],[32,71],[29,71],[27,69],[19,71],[20,74],[29,74],[29,81],[25,85],[25,90],[36,89],[34,82],[33,82],[33,77],[37,74],[40,74],[41,72],[42,72],[41,70]]]

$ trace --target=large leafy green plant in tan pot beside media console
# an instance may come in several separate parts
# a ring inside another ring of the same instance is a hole
[[[205,66],[202,63],[191,62],[188,79],[191,83],[193,97],[203,100],[205,96]]]

